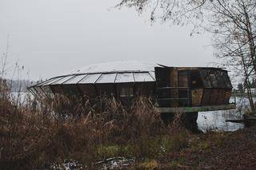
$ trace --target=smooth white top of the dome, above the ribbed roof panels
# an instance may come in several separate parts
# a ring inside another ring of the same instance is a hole
[[[120,73],[120,72],[148,72],[154,71],[154,67],[159,66],[154,63],[142,61],[114,61],[94,65],[87,65],[82,69],[74,69],[63,75],[82,73]]]

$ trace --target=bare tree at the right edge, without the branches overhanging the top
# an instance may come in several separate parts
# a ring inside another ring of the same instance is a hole
[[[216,56],[225,61],[224,65],[243,75],[250,107],[255,111],[249,84],[256,75],[256,2],[216,0],[208,11],[211,18],[206,30],[214,34]]]

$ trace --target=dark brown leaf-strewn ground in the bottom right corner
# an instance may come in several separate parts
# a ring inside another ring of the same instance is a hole
[[[256,169],[256,126],[198,135],[198,144],[136,165],[138,169]],[[193,141],[192,141],[193,143]]]

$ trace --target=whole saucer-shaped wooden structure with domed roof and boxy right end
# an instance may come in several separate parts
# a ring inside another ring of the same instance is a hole
[[[165,120],[175,109],[195,122],[200,111],[234,109],[232,85],[225,69],[169,67],[140,61],[107,62],[64,73],[29,88],[35,97],[62,93],[66,96],[115,97],[126,105],[138,96],[152,97]]]

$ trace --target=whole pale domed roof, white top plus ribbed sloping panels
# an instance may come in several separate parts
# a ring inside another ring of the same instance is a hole
[[[155,81],[154,63],[114,61],[74,69],[35,86]]]

